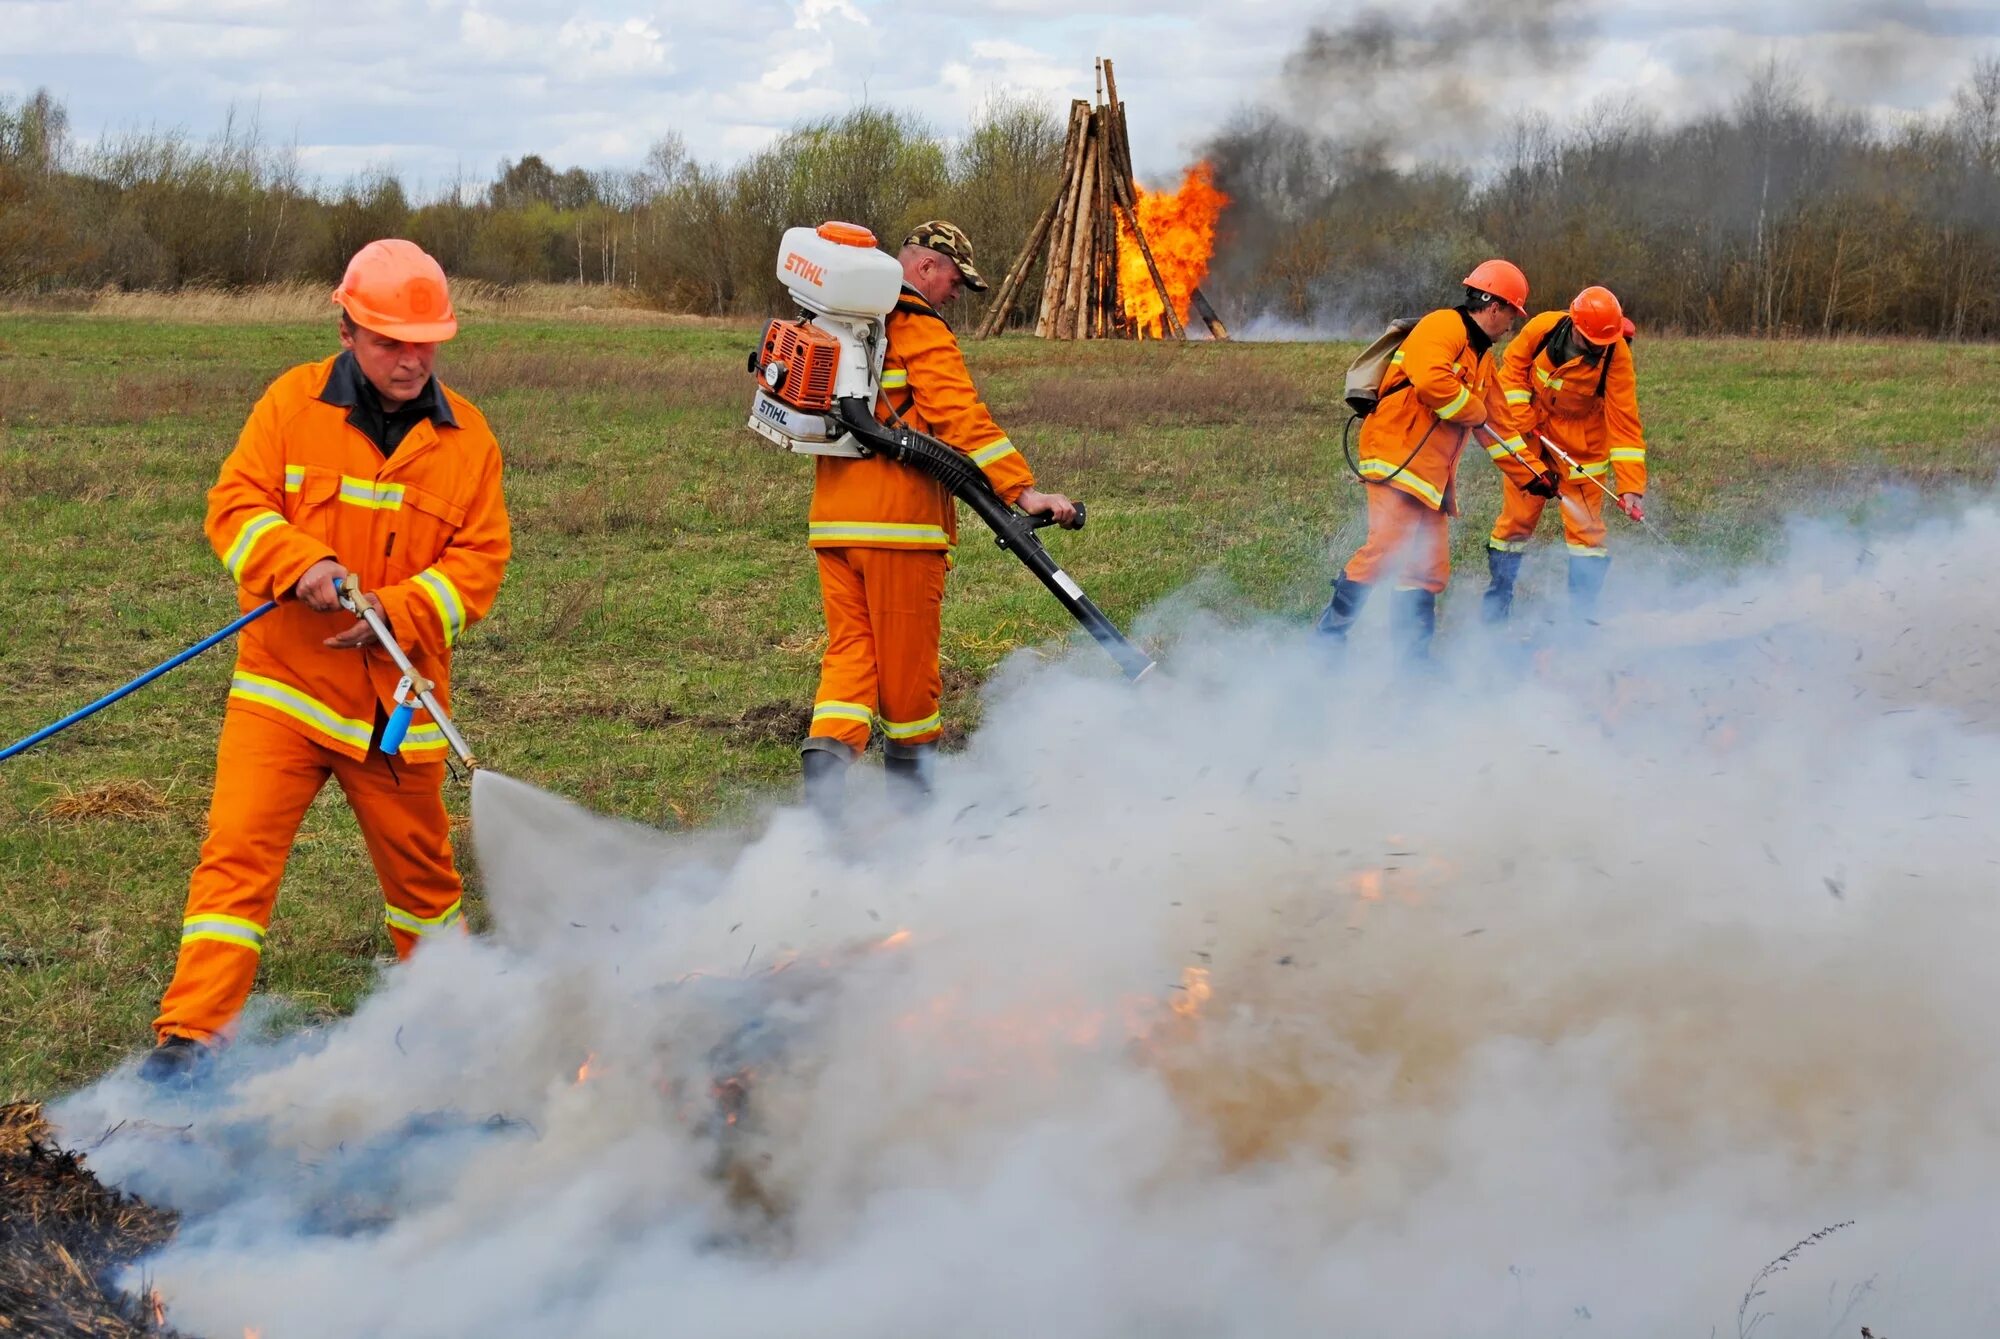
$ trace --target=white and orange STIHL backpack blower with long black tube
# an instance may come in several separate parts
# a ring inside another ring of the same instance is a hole
[[[932,476],[978,512],[994,542],[1048,588],[1126,677],[1142,679],[1152,658],[1118,632],[1036,538],[1050,518],[1026,516],[1002,502],[964,452],[912,428],[876,422],[888,354],[884,322],[902,294],[896,258],[854,224],[790,228],[778,248],[778,282],[798,302],[800,316],[774,320],[750,352],[750,372],[758,378],[750,430],[804,456],[886,456]],[[1084,524],[1082,504],[1076,524]]]

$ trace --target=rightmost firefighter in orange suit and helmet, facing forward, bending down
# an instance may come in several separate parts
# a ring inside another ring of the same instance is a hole
[[[1646,434],[1628,332],[1632,322],[1618,298],[1608,288],[1586,288],[1568,312],[1530,320],[1500,360],[1490,426],[1502,440],[1486,442],[1504,476],[1500,520],[1486,540],[1488,624],[1506,622],[1514,608],[1514,582],[1550,500],[1562,506],[1574,620],[1596,612],[1612,564],[1604,548],[1602,480],[1612,478],[1626,514],[1646,514]],[[1542,438],[1560,446],[1574,468],[1546,450]]]

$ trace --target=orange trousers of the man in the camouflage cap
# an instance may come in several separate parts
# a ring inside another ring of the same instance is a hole
[[[856,753],[880,721],[890,743],[938,737],[940,550],[814,550],[826,606],[826,656],[812,697],[812,735]]]

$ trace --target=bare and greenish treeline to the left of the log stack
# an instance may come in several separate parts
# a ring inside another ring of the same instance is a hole
[[[76,146],[62,104],[38,92],[0,100],[0,292],[330,284],[364,242],[404,236],[454,276],[764,312],[782,300],[778,236],[800,222],[864,222],[894,246],[946,216],[1004,272],[1056,190],[1062,134],[1040,104],[1004,98],[954,140],[860,108],[728,168],[668,136],[636,170],[556,170],[530,154],[490,184],[446,182],[418,202],[388,172],[314,184],[296,152],[238,122],[206,142],[134,132]]]

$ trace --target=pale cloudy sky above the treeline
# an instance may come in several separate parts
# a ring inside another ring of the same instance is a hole
[[[1460,0],[1554,14],[1576,44],[1480,64],[1494,114],[1554,116],[1606,94],[1668,114],[1734,96],[1770,58],[1884,114],[1938,110],[2000,54],[2000,2]],[[1088,96],[1112,56],[1142,180],[1180,168],[1350,0],[0,0],[0,96],[50,88],[88,140],[216,132],[228,110],[296,142],[308,172],[388,166],[420,192],[502,158],[636,166],[668,130],[730,162],[788,124],[862,102],[956,134],[994,92]],[[1398,12],[1422,14],[1412,0]],[[1294,94],[1296,100],[1296,94]]]

